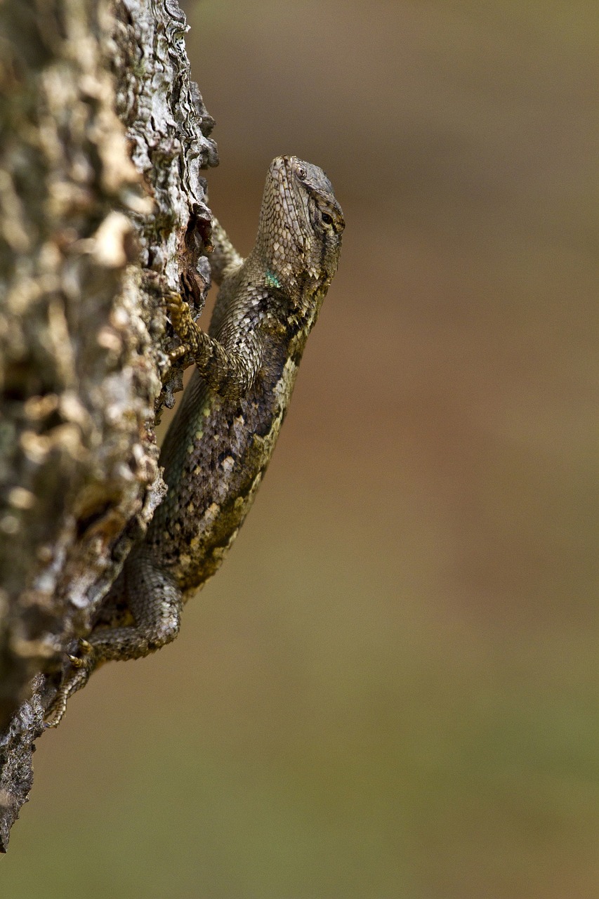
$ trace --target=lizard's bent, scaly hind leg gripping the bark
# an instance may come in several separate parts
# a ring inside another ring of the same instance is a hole
[[[58,725],[67,699],[85,686],[97,665],[109,660],[139,659],[170,643],[179,633],[181,590],[169,574],[156,567],[148,549],[133,550],[117,583],[123,590],[132,623],[122,627],[103,624],[87,640],[78,642],[79,654],[68,655],[70,664],[48,710],[47,727]],[[109,593],[107,599],[110,598]]]

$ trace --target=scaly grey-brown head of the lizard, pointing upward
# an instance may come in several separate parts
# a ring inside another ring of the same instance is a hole
[[[341,251],[344,214],[317,165],[277,156],[266,176],[256,246],[267,280],[291,298],[324,296]],[[313,289],[309,289],[312,287]]]

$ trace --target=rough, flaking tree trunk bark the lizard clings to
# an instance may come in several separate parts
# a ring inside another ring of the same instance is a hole
[[[184,31],[176,0],[0,5],[3,851],[67,645],[164,494],[161,296],[201,311],[218,161]]]

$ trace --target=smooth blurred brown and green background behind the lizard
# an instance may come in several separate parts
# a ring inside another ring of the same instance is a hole
[[[212,209],[246,253],[308,159],[341,266],[226,565],[40,741],[2,895],[597,896],[597,6],[185,8]]]

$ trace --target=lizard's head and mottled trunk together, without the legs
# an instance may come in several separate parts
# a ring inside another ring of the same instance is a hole
[[[251,385],[222,396],[196,369],[161,452],[168,492],[146,544],[183,593],[216,572],[253,502],[337,267],[343,227],[317,166],[294,156],[273,161],[255,248],[226,271],[209,332],[229,353],[259,357]]]

